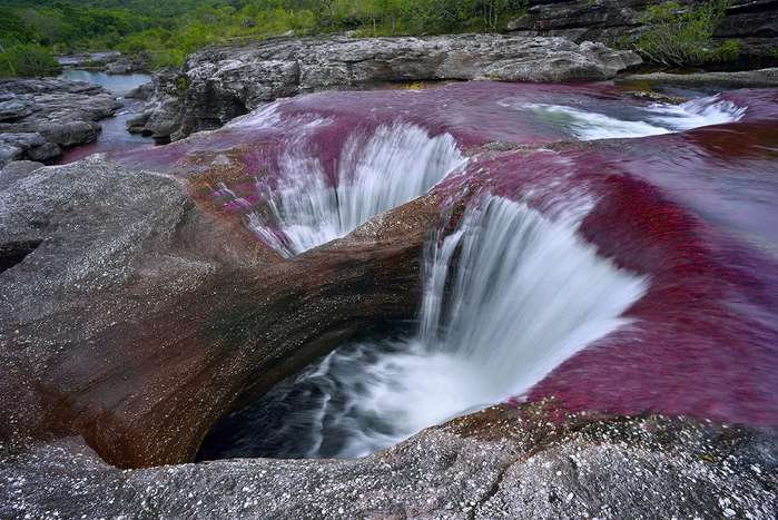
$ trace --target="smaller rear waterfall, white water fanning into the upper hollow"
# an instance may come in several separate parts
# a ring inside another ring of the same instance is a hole
[[[258,181],[269,212],[250,214],[248,227],[283,256],[293,256],[413,200],[464,164],[447,134],[430,137],[413,125],[381,126],[372,135],[349,136],[333,186],[301,140],[278,160],[273,187]]]

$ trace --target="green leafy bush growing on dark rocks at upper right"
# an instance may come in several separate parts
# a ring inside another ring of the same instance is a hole
[[[713,30],[732,0],[709,0],[693,11],[682,11],[678,2],[647,9],[642,22],[649,26],[636,42],[636,50],[650,61],[666,66],[690,66],[738,58],[739,41],[711,48]]]

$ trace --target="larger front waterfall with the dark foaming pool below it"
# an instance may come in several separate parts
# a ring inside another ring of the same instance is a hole
[[[234,415],[201,458],[361,457],[525,392],[624,325],[646,291],[575,235],[582,213],[551,220],[494,196],[471,205],[430,246],[415,333],[338,349]]]

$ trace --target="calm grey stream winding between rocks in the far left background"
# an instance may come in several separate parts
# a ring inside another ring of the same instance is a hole
[[[142,110],[144,101],[124,97],[135,87],[151,81],[149,75],[107,75],[105,72],[89,70],[65,70],[59,77],[62,79],[91,81],[101,85],[114,94],[124,106],[116,111],[114,117],[98,121],[102,127],[102,131],[97,140],[66,150],[62,157],[57,161],[58,164],[75,163],[91,154],[154,146],[154,139],[127,131],[127,120]]]

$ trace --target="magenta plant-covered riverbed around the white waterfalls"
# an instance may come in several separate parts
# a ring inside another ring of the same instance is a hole
[[[778,92],[722,99],[749,107],[741,121],[543,149],[570,136],[522,110],[525,104],[620,112],[641,101],[604,85],[326,92],[276,104],[277,122],[260,129],[234,127],[118,158],[190,175],[206,168],[185,160],[193,153],[234,150],[248,177],[237,184],[238,199],[223,202],[234,213],[272,196],[279,158],[292,147],[315,158],[336,186],[341,150],[355,133],[412,124],[431,136],[451,134],[471,163],[435,188],[444,204],[488,190],[552,217],[565,205],[591,205],[581,236],[650,281],[626,313],[631,324],[558,366],[530,401],[553,396],[561,412],[656,412],[776,428]],[[485,146],[492,143],[504,146]],[[441,223],[453,227],[451,209]]]

